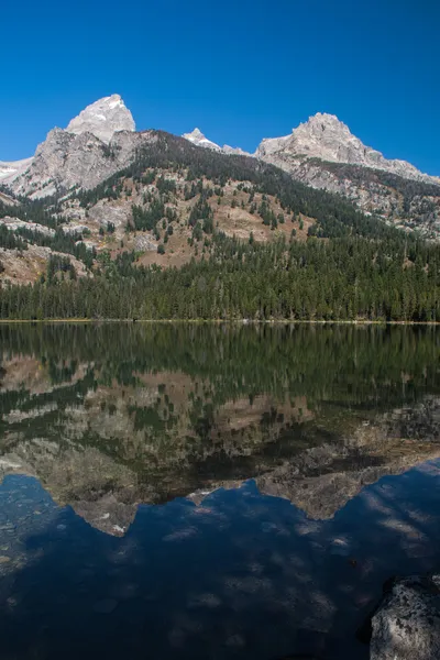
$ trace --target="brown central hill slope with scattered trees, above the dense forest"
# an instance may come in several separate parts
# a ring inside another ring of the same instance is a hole
[[[66,135],[73,141],[86,135],[101,148],[89,133]],[[0,282],[32,282],[42,273],[41,260],[23,270],[14,234],[29,246],[80,260],[91,275],[101,254],[114,258],[125,251],[135,253],[140,265],[182,266],[209,255],[219,232],[243,242],[287,243],[351,232],[378,238],[388,231],[340,197],[256,158],[199,148],[161,131],[118,133],[110,144],[121,138],[138,143],[133,160],[95,188],[61,199],[20,198],[13,209],[0,204],[0,246],[8,251]],[[28,251],[26,257],[40,252]]]

